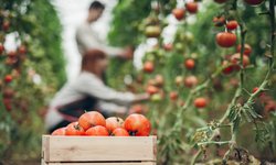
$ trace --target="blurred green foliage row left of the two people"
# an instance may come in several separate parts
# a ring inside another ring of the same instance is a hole
[[[50,1],[2,0],[0,24],[4,21],[10,28],[0,28],[0,43],[8,33],[17,33],[15,40],[26,48],[25,53],[17,50],[15,64],[7,63],[12,58],[9,52],[0,58],[0,157],[9,163],[39,158],[45,106],[66,77],[61,24]],[[4,82],[6,75],[13,80]]]

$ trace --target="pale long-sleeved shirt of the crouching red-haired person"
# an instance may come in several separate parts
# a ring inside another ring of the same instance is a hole
[[[109,112],[126,112],[127,106],[135,100],[131,92],[119,92],[107,87],[97,76],[88,72],[82,72],[76,79],[65,84],[65,86],[55,95],[50,103],[46,113],[46,129],[50,129],[61,121],[63,117],[55,109],[87,96],[98,99],[97,108]]]

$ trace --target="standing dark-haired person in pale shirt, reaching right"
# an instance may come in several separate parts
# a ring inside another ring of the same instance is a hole
[[[131,58],[132,50],[130,47],[119,48],[107,46],[99,37],[98,32],[94,31],[91,25],[95,23],[103,14],[105,6],[98,1],[91,3],[87,19],[76,30],[76,43],[82,56],[89,50],[100,50],[109,56],[121,58]]]

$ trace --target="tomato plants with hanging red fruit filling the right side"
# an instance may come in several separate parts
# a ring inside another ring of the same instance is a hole
[[[276,148],[272,135],[275,85],[268,82],[275,81],[272,72],[275,15],[270,14],[275,13],[275,2],[156,3],[158,10],[152,8],[148,16],[141,16],[145,21],[155,18],[151,23],[161,28],[162,35],[155,38],[156,45],[146,48],[141,59],[142,66],[150,61],[155,69],[126,73],[134,78],[126,87],[135,87],[136,91],[148,91],[149,86],[158,89],[147,103],[148,111],[144,112],[151,121],[152,132],[158,135],[158,163],[214,164],[217,161],[241,164],[243,161],[235,157],[238,154],[251,157],[252,162],[274,158],[275,153],[269,152],[267,142]],[[191,3],[198,4],[197,14],[189,7]],[[118,3],[116,9],[123,4]],[[177,30],[167,35],[168,31],[173,31],[170,25],[176,25]],[[135,46],[145,45],[150,40],[140,37],[140,43]],[[120,69],[127,70],[126,67]],[[161,85],[157,84],[156,75],[162,76]],[[258,89],[252,92],[255,87]],[[259,95],[264,90],[265,95]]]

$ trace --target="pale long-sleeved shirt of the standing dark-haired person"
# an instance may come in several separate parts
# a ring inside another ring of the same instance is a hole
[[[89,23],[86,21],[82,23],[76,29],[76,44],[78,52],[84,55],[85,52],[89,50],[100,50],[105,52],[107,55],[116,56],[118,54],[121,54],[124,50],[107,46],[97,35],[97,32],[94,32],[89,25]]]

